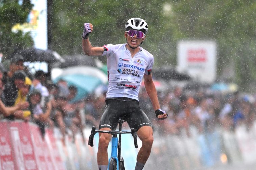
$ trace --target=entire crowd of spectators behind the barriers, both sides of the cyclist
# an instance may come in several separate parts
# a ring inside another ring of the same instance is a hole
[[[106,87],[96,89],[85,99],[74,102],[76,86],[68,86],[60,79],[53,84],[43,71],[31,74],[23,66],[23,57],[15,55],[9,70],[0,65],[0,116],[1,119],[32,121],[39,125],[42,136],[45,127],[57,126],[63,135],[67,129],[75,134],[83,128],[98,127],[105,108]],[[153,129],[159,133],[178,135],[185,131],[190,136],[190,127],[198,133],[213,131],[216,127],[235,130],[240,124],[249,129],[256,120],[256,96],[235,91],[220,93],[207,88],[161,89],[158,91],[161,107],[169,114],[165,121],[154,116],[151,101],[144,87],[139,94],[140,107],[148,115]]]

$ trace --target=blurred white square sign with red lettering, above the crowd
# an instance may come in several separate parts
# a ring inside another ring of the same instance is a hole
[[[212,83],[216,79],[216,43],[186,40],[177,46],[177,70],[187,73],[195,81]]]

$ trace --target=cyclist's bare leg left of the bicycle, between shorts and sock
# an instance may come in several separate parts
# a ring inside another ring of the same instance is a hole
[[[100,130],[110,131],[110,128],[101,128]],[[111,134],[99,133],[99,147],[97,153],[97,162],[98,165],[108,165],[108,153],[107,148],[108,144],[112,138]]]

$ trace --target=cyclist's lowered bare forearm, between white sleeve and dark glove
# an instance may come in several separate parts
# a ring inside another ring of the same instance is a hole
[[[147,94],[152,102],[154,110],[160,108],[160,104],[157,97],[156,87],[152,79],[152,74],[146,75],[144,74],[144,85],[147,91]]]

